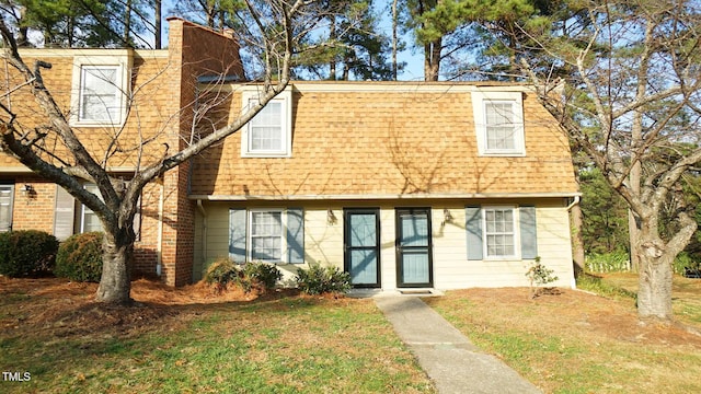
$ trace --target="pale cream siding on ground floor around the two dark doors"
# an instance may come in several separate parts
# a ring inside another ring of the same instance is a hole
[[[380,208],[380,264],[381,285],[384,290],[397,289],[395,208],[392,201],[382,204],[358,202],[313,202],[292,204],[304,208],[304,265],[279,265],[285,275],[284,281],[291,285],[296,270],[309,264],[344,267],[344,222],[343,208]],[[482,202],[482,201],[480,201]],[[474,201],[471,201],[474,204]],[[485,205],[496,205],[489,201]],[[514,201],[502,202],[517,205]],[[530,201],[529,204],[533,204]],[[268,204],[280,207],[279,205]],[[433,269],[434,287],[441,290],[463,289],[471,287],[513,287],[528,286],[526,271],[527,260],[468,260],[467,236],[464,230],[466,201],[427,201],[411,207],[430,207],[433,227]],[[538,254],[541,262],[555,270],[560,278],[554,286],[570,287],[573,280],[572,252],[567,211],[560,199],[537,201],[538,218]],[[206,269],[208,263],[228,255],[229,208],[245,207],[241,202],[205,202],[207,212],[206,247],[203,248],[204,221],[198,212],[195,248],[200,260],[195,262],[195,269]],[[260,205],[246,208],[260,208]],[[329,210],[336,221],[329,220]],[[445,210],[452,220],[446,221]],[[206,260],[202,260],[206,255]],[[195,277],[198,274],[195,273]]]

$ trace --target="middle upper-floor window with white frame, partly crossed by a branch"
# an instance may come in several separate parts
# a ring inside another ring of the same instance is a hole
[[[257,92],[244,92],[244,111],[258,103]],[[291,155],[291,92],[271,100],[241,132],[244,158],[289,158]]]

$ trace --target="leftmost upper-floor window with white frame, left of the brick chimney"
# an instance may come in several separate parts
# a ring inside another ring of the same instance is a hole
[[[128,70],[129,57],[126,55],[76,57],[71,124],[80,127],[124,124]]]

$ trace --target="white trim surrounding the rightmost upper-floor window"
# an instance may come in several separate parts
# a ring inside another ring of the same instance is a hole
[[[514,104],[514,149],[487,149],[486,104],[490,102]],[[494,157],[525,157],[524,96],[521,92],[472,92],[472,113],[478,138],[478,153]]]

